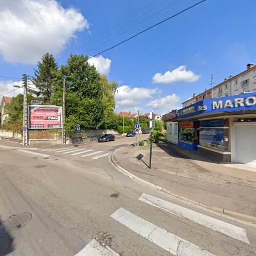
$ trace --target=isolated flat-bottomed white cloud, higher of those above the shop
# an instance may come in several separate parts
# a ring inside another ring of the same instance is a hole
[[[156,73],[153,76],[153,83],[173,83],[173,82],[196,82],[201,76],[196,75],[191,70],[186,70],[186,66],[180,66],[173,71],[166,71],[164,74]]]

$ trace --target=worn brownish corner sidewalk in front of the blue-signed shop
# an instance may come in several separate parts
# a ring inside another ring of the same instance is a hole
[[[132,175],[174,194],[256,217],[255,172],[209,162],[176,145],[160,144],[153,146],[152,169],[147,166],[149,146],[126,146],[115,152],[113,158]],[[136,159],[139,154],[143,155],[142,160]]]

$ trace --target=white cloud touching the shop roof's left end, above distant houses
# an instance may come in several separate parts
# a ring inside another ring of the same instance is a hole
[[[157,108],[168,108],[168,111],[172,111],[180,108],[178,102],[180,102],[180,97],[173,93],[172,95],[152,100],[147,103],[147,106],[152,106],[153,108],[156,108],[157,112],[164,113],[167,112],[166,109],[161,110]]]

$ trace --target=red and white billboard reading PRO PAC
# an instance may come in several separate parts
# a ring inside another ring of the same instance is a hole
[[[28,112],[28,129],[62,128],[61,106],[30,105]]]

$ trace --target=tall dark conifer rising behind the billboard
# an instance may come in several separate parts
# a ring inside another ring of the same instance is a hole
[[[58,65],[53,55],[46,53],[42,55],[41,61],[38,61],[37,68],[38,70],[34,69],[32,79],[35,87],[39,90],[36,95],[43,97],[45,103],[48,103],[53,96],[53,81],[56,77]]]

